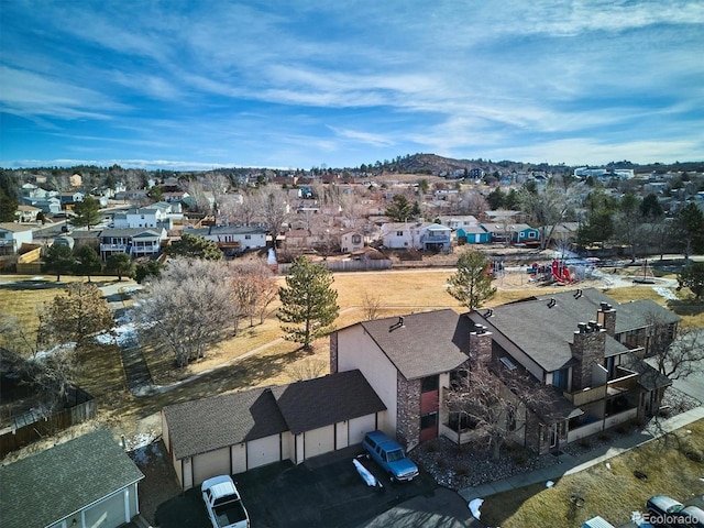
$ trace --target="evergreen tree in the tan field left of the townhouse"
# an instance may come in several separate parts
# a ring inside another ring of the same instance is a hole
[[[334,278],[326,267],[299,256],[286,276],[286,286],[278,290],[284,339],[310,350],[310,343],[330,329],[340,314],[338,292],[331,288]]]

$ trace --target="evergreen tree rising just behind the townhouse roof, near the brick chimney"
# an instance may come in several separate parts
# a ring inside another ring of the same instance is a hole
[[[448,279],[448,293],[470,310],[481,308],[496,293],[488,267],[488,261],[479,251],[462,253],[458,260],[458,272]]]

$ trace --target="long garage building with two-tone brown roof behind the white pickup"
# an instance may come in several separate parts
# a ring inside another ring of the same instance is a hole
[[[166,449],[184,487],[362,442],[386,407],[360,371],[170,405],[162,410]]]

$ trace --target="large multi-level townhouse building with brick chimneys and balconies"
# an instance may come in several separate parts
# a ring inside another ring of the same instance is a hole
[[[363,321],[330,341],[332,373],[360,370],[387,408],[380,426],[408,449],[442,435],[464,443],[471,427],[442,405],[476,359],[529,373],[554,393],[524,407],[514,440],[541,453],[658,411],[670,381],[642,358],[652,317],[673,339],[679,317],[659,305],[616,305],[596,289],[531,297],[484,314],[452,310]]]

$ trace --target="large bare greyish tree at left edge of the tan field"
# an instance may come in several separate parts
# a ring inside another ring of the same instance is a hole
[[[227,267],[217,261],[168,261],[150,289],[135,296],[141,339],[174,354],[178,366],[204,358],[232,321]]]

